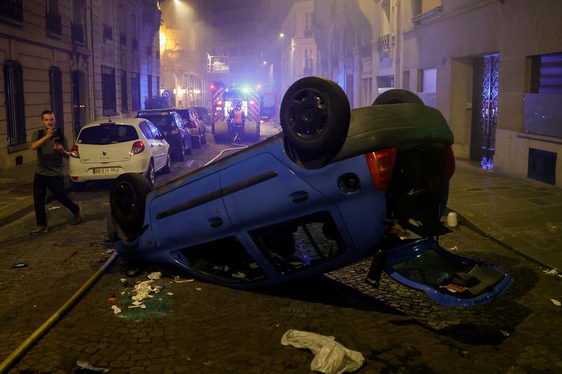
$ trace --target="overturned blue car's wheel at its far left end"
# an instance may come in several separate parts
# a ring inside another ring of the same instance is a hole
[[[141,174],[124,173],[113,183],[110,192],[112,224],[119,225],[129,239],[141,233],[149,192],[150,185]]]

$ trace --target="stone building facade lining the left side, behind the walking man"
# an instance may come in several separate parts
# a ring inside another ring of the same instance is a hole
[[[35,159],[44,109],[72,145],[85,123],[157,95],[161,14],[157,0],[2,1],[0,168]]]

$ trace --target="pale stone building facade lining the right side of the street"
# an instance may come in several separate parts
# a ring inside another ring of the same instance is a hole
[[[315,0],[316,69],[352,107],[414,91],[458,158],[562,188],[561,14],[557,0]]]

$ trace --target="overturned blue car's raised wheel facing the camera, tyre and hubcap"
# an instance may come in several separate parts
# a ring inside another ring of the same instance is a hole
[[[306,76],[289,87],[280,108],[283,133],[299,158],[322,167],[346,140],[351,109],[334,81]],[[314,162],[314,161],[318,162]]]

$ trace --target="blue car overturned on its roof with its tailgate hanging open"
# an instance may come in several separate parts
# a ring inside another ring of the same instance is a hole
[[[372,258],[452,306],[502,294],[511,277],[431,239],[455,170],[437,109],[391,90],[350,110],[333,81],[309,76],[282,100],[283,132],[151,190],[121,175],[110,193],[110,238],[133,262],[181,269],[234,288],[280,283]],[[401,239],[395,225],[421,239]]]

